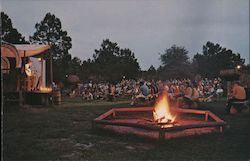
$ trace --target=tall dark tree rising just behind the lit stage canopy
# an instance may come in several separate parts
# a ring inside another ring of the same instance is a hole
[[[30,41],[35,43],[49,44],[53,53],[53,78],[60,81],[64,78],[66,71],[64,65],[68,65],[69,49],[72,47],[71,37],[67,31],[62,29],[59,18],[54,14],[47,13],[40,23],[35,25],[35,33],[30,36]]]

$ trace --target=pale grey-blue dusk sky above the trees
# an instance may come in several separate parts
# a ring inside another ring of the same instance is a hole
[[[81,60],[108,38],[131,49],[143,70],[159,67],[159,53],[173,44],[192,58],[207,41],[249,63],[249,0],[1,0],[1,11],[26,40],[47,12],[55,14]]]

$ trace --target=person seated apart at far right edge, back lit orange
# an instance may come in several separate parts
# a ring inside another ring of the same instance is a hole
[[[232,96],[227,101],[226,112],[230,113],[233,102],[244,102],[246,100],[246,91],[239,82],[233,85]],[[237,109],[239,110],[239,109]]]

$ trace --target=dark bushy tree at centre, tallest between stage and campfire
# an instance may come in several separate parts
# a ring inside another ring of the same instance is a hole
[[[117,43],[109,39],[103,40],[93,57],[94,73],[99,80],[118,81],[123,76],[135,78],[140,70],[134,53],[130,49],[120,49]]]

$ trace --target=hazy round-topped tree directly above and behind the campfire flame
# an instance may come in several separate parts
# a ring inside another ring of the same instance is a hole
[[[173,45],[160,55],[162,66],[158,69],[161,79],[188,78],[192,76],[188,51]]]

